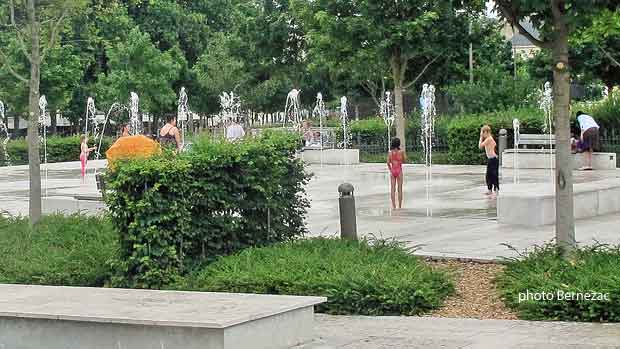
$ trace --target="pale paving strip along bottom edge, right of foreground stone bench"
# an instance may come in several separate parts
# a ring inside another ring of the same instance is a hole
[[[620,324],[315,314],[315,333],[295,348],[620,348]]]

